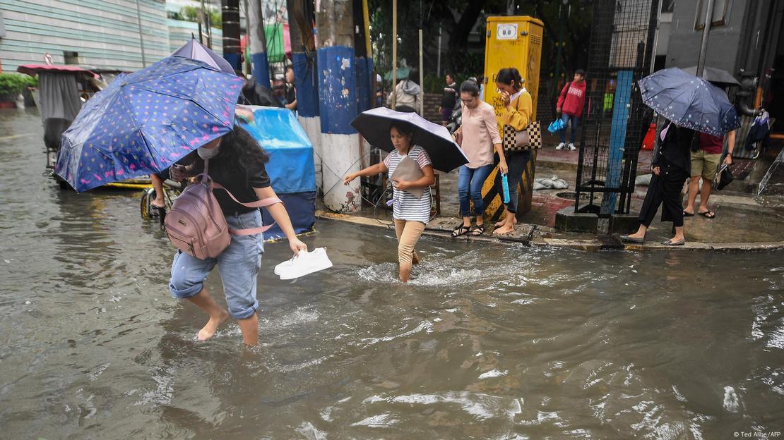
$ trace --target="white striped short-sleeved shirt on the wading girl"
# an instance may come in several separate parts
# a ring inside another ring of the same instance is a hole
[[[432,164],[430,156],[427,155],[427,152],[421,146],[412,146],[411,150],[408,151],[408,156],[419,165],[419,168],[425,168],[427,165]],[[394,174],[397,164],[400,164],[403,157],[405,157],[405,154],[397,153],[397,150],[392,150],[392,153],[387,154],[384,164],[389,168],[390,176]],[[430,186],[425,188],[425,192],[419,199],[412,193],[393,187],[392,200],[392,218],[407,222],[423,222],[425,224],[430,220]]]

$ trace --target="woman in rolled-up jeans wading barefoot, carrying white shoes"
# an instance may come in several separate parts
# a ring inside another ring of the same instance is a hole
[[[182,180],[200,174],[204,170],[204,160],[209,159],[209,176],[214,182],[223,185],[243,203],[255,202],[275,196],[270,186],[270,177],[264,164],[269,157],[261,149],[256,139],[239,126],[198,149],[194,164],[171,168],[171,177]],[[230,229],[250,229],[261,226],[261,212],[256,207],[245,207],[231,199],[223,189],[215,189],[221,211]],[[267,207],[281,231],[289,239],[289,247],[298,254],[307,251],[305,243],[299,241],[294,233],[289,214],[283,204]],[[231,243],[217,258],[200,260],[177,251],[172,262],[172,279],[169,290],[174,298],[191,301],[209,315],[209,321],[198,332],[198,340],[206,341],[218,330],[229,316],[237,319],[242,332],[242,341],[256,345],[259,341],[259,323],[256,316],[256,276],[261,269],[261,256],[264,253],[262,234],[247,236],[231,235]],[[218,265],[220,279],[223,281],[223,294],[226,295],[228,311],[217,305],[204,285],[209,272]]]

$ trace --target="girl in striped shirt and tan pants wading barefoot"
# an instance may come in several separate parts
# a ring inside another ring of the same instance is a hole
[[[430,156],[421,146],[411,145],[414,128],[405,122],[394,122],[390,128],[390,139],[394,150],[387,155],[380,164],[372,165],[364,170],[347,175],[343,183],[348,185],[360,176],[378,175],[383,172],[394,174],[397,164],[408,156],[411,157],[422,169],[422,177],[414,181],[393,179],[393,213],[395,235],[397,235],[397,261],[400,263],[400,280],[408,283],[412,264],[419,264],[419,258],[414,251],[419,236],[425,230],[425,225],[430,220],[430,186],[435,183],[433,164]],[[410,188],[424,188],[422,197],[416,197],[406,191]]]

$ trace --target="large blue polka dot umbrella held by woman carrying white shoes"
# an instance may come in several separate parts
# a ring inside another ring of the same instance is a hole
[[[60,139],[55,172],[86,191],[159,172],[234,127],[242,79],[182,56],[115,78]]]

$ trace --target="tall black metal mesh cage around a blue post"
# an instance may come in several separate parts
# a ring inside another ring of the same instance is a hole
[[[653,116],[637,81],[651,70],[658,13],[659,0],[593,2],[575,212],[630,211],[637,156]]]

